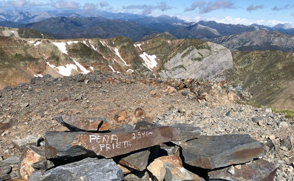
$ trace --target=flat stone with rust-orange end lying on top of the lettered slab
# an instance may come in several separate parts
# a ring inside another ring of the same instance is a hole
[[[57,116],[55,120],[71,131],[106,131],[109,129],[109,122],[105,118]]]

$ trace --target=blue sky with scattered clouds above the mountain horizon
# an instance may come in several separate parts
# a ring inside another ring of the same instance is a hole
[[[8,4],[8,5],[7,5]],[[107,10],[111,12],[139,13],[158,16],[175,15],[186,21],[215,20],[232,24],[292,23],[294,26],[294,1],[230,1],[230,0],[8,0],[2,6],[8,7],[50,7],[57,9]]]

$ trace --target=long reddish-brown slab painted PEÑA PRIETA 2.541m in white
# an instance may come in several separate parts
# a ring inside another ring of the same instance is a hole
[[[46,158],[101,155],[111,158],[175,139],[175,128],[162,126],[118,133],[46,132]]]

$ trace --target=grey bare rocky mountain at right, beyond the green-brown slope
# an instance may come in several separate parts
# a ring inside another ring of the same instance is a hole
[[[294,52],[294,38],[275,31],[256,30],[213,38],[209,41],[232,51],[282,50]]]

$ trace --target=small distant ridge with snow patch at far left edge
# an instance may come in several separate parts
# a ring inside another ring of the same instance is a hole
[[[0,26],[0,36],[16,38],[50,38],[48,35],[27,28],[9,28]]]

